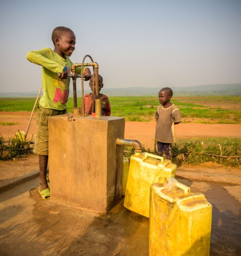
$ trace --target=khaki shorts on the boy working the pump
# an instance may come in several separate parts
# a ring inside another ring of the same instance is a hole
[[[35,135],[33,152],[35,152],[36,154],[48,156],[48,117],[54,115],[63,115],[65,113],[66,109],[47,109],[41,107],[40,105],[37,107],[37,130]]]

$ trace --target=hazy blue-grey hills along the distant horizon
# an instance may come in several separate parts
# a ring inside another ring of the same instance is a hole
[[[123,88],[103,88],[101,92],[108,96],[156,96],[161,87],[123,87]],[[189,87],[172,87],[175,95],[241,95],[241,83],[221,84],[221,85],[198,85]],[[85,93],[91,92],[90,88],[85,89]],[[10,97],[37,97],[38,92],[15,92],[0,93],[1,98]],[[70,86],[70,97],[73,95]],[[81,96],[81,91],[77,90],[77,95]]]

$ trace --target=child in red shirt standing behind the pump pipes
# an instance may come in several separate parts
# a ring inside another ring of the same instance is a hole
[[[98,80],[99,80],[99,91],[101,88],[103,88],[103,78],[101,75],[98,75]],[[93,75],[91,76],[91,79],[89,80],[89,87],[91,88],[92,92],[85,94],[84,96],[84,103],[85,103],[85,114],[91,115],[92,111],[92,103],[93,103]],[[101,99],[101,115],[104,116],[110,116],[111,113],[111,106],[109,103],[108,96],[105,94],[100,94],[99,93],[99,99]],[[94,105],[95,109],[95,105]]]

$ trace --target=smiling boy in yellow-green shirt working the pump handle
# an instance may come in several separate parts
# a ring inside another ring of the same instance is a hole
[[[30,51],[26,58],[42,66],[43,96],[37,109],[37,131],[35,135],[34,152],[39,154],[39,193],[43,199],[50,197],[50,189],[46,181],[48,165],[48,117],[66,113],[66,102],[69,96],[69,82],[72,62],[69,56],[75,49],[75,35],[70,28],[59,26],[52,32],[54,51],[44,48]],[[77,70],[80,73],[80,69]],[[57,77],[61,73],[61,77]],[[85,68],[83,75],[89,80],[91,72]]]

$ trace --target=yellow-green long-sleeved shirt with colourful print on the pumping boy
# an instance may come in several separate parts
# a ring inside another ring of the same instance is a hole
[[[61,80],[56,75],[63,70],[71,72],[72,62],[68,56],[65,57],[66,59],[62,58],[50,48],[30,51],[26,55],[29,61],[42,66],[43,96],[39,100],[42,107],[56,110],[67,108],[70,78]],[[76,72],[80,73],[80,69]]]

